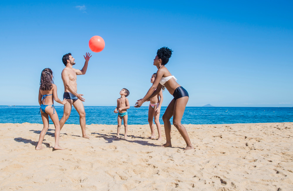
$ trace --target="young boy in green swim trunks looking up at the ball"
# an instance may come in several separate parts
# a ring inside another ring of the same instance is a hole
[[[128,130],[127,109],[129,109],[130,106],[129,106],[128,99],[126,97],[129,95],[129,91],[126,88],[123,88],[120,91],[120,95],[121,95],[121,97],[117,99],[117,107],[114,110],[114,113],[118,113],[117,138],[118,139],[120,138],[119,133],[120,133],[120,127],[121,127],[121,122],[122,122],[122,118],[123,118],[124,129],[125,129],[124,138],[127,139],[127,130]]]

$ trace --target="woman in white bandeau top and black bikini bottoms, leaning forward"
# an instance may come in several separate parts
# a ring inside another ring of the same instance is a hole
[[[181,124],[181,119],[189,99],[188,92],[176,82],[177,79],[171,75],[165,66],[171,55],[172,50],[168,47],[162,47],[157,51],[154,59],[154,66],[158,68],[156,79],[144,98],[137,100],[134,107],[140,107],[146,100],[156,96],[161,91],[162,86],[165,86],[174,99],[170,102],[163,115],[166,144],[163,144],[162,147],[172,147],[170,119],[173,116],[173,125],[178,129],[187,145],[184,150],[194,149],[185,127]]]

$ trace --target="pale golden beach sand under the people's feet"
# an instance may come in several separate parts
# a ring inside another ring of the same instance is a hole
[[[162,125],[163,126],[163,125]],[[172,125],[172,146],[149,140],[149,125],[54,125],[35,150],[42,124],[0,124],[1,190],[293,190],[293,123],[185,125],[195,149]],[[155,129],[156,130],[156,129]],[[124,134],[122,125],[121,134]]]

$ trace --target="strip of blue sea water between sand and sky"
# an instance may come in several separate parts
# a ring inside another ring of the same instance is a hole
[[[39,106],[0,106],[0,123],[42,123]],[[59,119],[63,106],[55,107]],[[86,124],[117,124],[115,106],[85,106]],[[161,108],[160,123],[166,107]],[[148,124],[148,107],[128,109],[128,124]],[[293,122],[293,107],[186,107],[182,124]],[[50,120],[52,124],[52,121]],[[79,124],[72,107],[67,124]]]

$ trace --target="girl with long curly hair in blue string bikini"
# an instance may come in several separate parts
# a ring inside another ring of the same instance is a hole
[[[44,137],[49,129],[49,116],[55,125],[55,146],[54,149],[61,149],[64,148],[59,146],[59,136],[60,136],[60,124],[57,112],[54,108],[54,100],[59,104],[66,104],[67,101],[64,99],[61,101],[57,96],[57,86],[54,84],[53,81],[53,72],[50,68],[45,68],[41,73],[41,80],[40,80],[40,89],[39,89],[39,104],[41,106],[40,112],[42,116],[42,121],[44,127],[40,133],[40,138],[36,150],[44,149],[42,147],[42,142]]]

